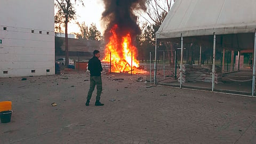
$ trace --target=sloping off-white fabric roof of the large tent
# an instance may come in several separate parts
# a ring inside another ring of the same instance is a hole
[[[254,33],[255,7],[255,0],[176,0],[156,38]]]

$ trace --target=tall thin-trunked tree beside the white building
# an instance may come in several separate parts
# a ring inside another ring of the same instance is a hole
[[[74,4],[76,2],[82,3],[84,6],[83,0],[55,0],[55,7],[57,7],[58,12],[55,15],[55,29],[61,29],[62,25],[65,25],[65,51],[66,51],[66,59],[65,59],[65,66],[68,67],[69,57],[68,57],[68,22],[70,20],[74,20],[76,18],[76,11],[74,8]]]

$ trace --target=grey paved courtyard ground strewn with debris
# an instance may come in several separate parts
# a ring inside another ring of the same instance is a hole
[[[13,102],[0,143],[256,143],[256,98],[150,87],[139,77],[102,75],[101,107],[95,91],[85,106],[87,73],[0,78],[0,101]]]

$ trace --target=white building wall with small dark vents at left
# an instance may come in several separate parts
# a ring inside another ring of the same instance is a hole
[[[53,75],[54,0],[1,0],[0,13],[0,77]]]

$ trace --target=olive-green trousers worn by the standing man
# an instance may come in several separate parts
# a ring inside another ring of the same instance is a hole
[[[97,85],[97,96],[96,100],[100,100],[100,95],[102,92],[102,80],[101,76],[90,76],[90,89],[87,94],[87,100],[90,100],[92,97],[92,92],[94,91],[94,87]]]

